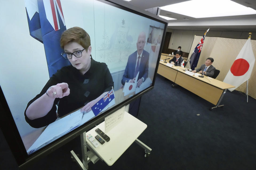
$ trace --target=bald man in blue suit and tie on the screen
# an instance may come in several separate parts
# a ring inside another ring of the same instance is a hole
[[[132,53],[127,61],[125,72],[123,73],[122,84],[125,82],[134,83],[139,72],[137,86],[144,82],[149,74],[149,53],[144,50],[146,34],[141,32],[138,36],[137,51]]]

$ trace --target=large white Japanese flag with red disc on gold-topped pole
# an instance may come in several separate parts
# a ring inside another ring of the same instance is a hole
[[[251,47],[251,37],[249,37],[223,80],[223,82],[235,86],[229,88],[230,91],[235,90],[251,77],[254,62],[255,57]]]

